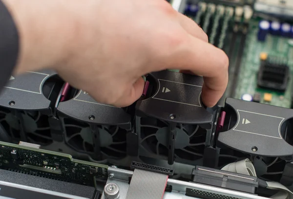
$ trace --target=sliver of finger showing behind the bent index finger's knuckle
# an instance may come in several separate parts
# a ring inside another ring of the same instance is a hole
[[[185,29],[186,32],[188,32],[188,34],[203,41],[209,42],[208,35],[193,20],[186,17],[182,13],[178,13],[178,19],[180,25],[183,27],[183,29]]]

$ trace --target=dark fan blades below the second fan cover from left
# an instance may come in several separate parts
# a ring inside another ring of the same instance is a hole
[[[74,150],[86,153],[95,160],[122,159],[126,156],[126,130],[118,126],[97,125],[99,143],[95,143],[91,126],[87,123],[73,119],[63,119],[63,122],[65,142]],[[95,144],[100,144],[101,154],[94,153]]]

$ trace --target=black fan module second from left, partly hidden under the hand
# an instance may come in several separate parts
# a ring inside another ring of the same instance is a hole
[[[132,128],[128,108],[101,104],[84,91],[64,88],[57,110],[66,144],[96,161],[125,158],[126,134]]]

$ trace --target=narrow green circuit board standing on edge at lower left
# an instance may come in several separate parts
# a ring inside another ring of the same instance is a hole
[[[96,186],[108,166],[72,159],[71,155],[0,141],[0,169]]]

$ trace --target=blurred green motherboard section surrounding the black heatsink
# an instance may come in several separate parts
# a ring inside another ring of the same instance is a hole
[[[268,34],[265,41],[258,41],[258,23],[259,20],[256,19],[250,22],[235,95],[232,97],[241,99],[243,94],[251,94],[253,96],[257,92],[261,96],[261,103],[291,108],[293,94],[293,39]],[[262,52],[267,53],[269,57],[274,56],[288,60],[290,79],[285,92],[258,88],[257,74],[261,64],[260,54]],[[272,101],[264,101],[265,93],[272,94]]]

